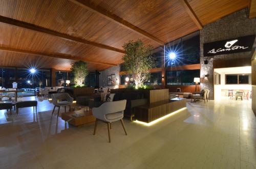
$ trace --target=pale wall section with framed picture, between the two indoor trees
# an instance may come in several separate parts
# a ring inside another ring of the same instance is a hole
[[[111,86],[119,85],[117,84],[117,82],[120,81],[119,71],[120,71],[120,66],[118,65],[100,72],[99,86],[100,87],[108,86],[108,76],[110,76],[111,74],[115,74],[116,76],[116,78],[113,80],[114,83],[112,83]]]

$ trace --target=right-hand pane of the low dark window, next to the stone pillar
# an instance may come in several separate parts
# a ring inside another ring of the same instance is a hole
[[[182,85],[196,85],[194,77],[200,77],[200,70],[183,70],[182,71]]]

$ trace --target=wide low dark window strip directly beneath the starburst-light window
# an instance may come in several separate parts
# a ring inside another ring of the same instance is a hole
[[[200,69],[166,71],[166,85],[195,85],[194,77],[200,77]]]

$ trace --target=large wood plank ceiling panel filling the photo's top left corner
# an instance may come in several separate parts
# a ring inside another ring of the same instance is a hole
[[[0,5],[0,15],[2,16],[112,47],[122,49],[123,43],[138,38],[146,44],[158,46],[158,44],[66,0],[1,0]]]

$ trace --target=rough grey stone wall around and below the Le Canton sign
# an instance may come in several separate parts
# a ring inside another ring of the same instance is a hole
[[[216,22],[209,23],[200,30],[201,89],[210,90],[210,99],[213,99],[214,91],[213,61],[250,58],[251,54],[250,52],[241,52],[203,57],[203,44],[253,34],[256,34],[256,19],[248,18],[247,8],[223,17]],[[207,65],[204,65],[205,60],[209,61]]]

